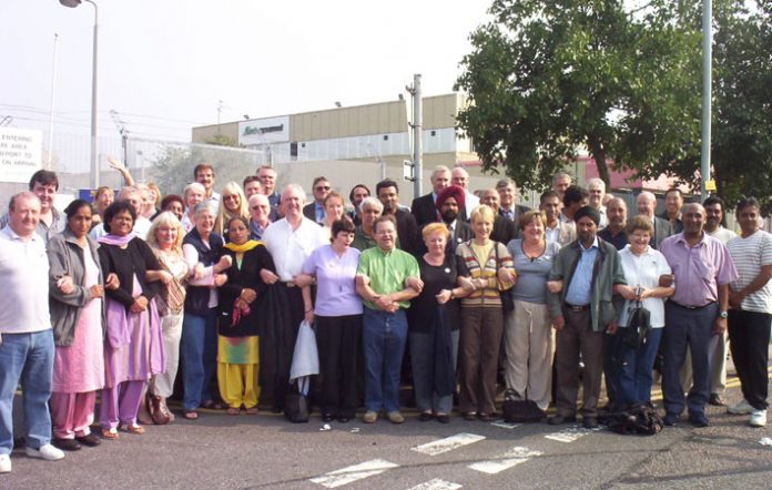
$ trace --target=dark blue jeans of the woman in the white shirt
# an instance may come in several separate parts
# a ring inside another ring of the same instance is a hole
[[[624,328],[620,327],[614,337],[624,335]],[[621,366],[618,370],[617,402],[619,408],[632,404],[648,404],[651,401],[651,384],[654,358],[662,338],[662,328],[652,328],[646,339],[646,344],[638,349],[627,347],[622,341],[617,345],[617,356]]]

